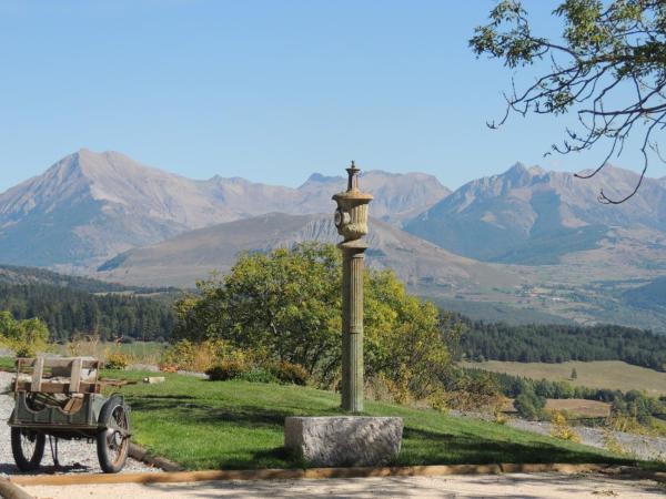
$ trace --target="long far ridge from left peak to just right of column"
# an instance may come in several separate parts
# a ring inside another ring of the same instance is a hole
[[[447,194],[423,174],[367,173],[386,220],[423,211]],[[396,189],[404,185],[404,192]],[[300,189],[214,176],[194,181],[117,153],[81,150],[0,194],[0,263],[90,267],[132,247],[275,211],[332,211],[343,179],[313,175]],[[394,216],[395,215],[395,216]]]

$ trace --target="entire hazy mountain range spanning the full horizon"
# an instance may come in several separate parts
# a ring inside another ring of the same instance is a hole
[[[424,173],[364,172],[369,263],[454,308],[666,329],[666,180],[646,179],[618,206],[597,201],[637,180],[610,165],[585,181],[517,163],[451,192]],[[0,194],[0,264],[189,287],[241,251],[339,241],[331,196],[345,186],[317,173],[296,189],[191,180],[81,150]]]

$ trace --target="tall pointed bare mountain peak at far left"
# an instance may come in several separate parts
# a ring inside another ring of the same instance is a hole
[[[232,220],[194,181],[119,153],[81,150],[0,194],[2,263],[85,265],[190,227]]]

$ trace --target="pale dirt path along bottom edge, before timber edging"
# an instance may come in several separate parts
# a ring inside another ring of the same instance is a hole
[[[597,475],[486,475],[329,480],[208,481],[196,483],[26,487],[51,499],[201,498],[664,498],[666,485]]]

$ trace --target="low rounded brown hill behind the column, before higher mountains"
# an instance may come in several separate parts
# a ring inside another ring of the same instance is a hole
[[[125,284],[192,286],[212,271],[228,271],[241,251],[263,252],[304,241],[340,242],[332,217],[273,213],[205,227],[131,249],[102,265],[97,276]],[[411,285],[455,292],[519,283],[498,266],[453,255],[377,220],[372,221],[367,242],[370,265],[393,268]]]

